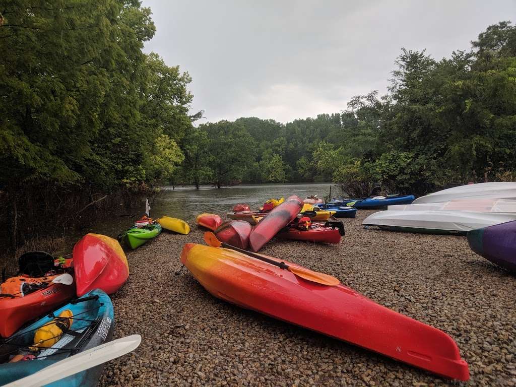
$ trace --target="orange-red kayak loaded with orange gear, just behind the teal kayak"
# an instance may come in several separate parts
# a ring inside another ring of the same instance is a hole
[[[69,262],[71,260],[68,260]],[[62,274],[11,277],[0,287],[0,336],[9,337],[25,322],[48,313],[75,296],[75,283],[52,283]],[[30,289],[36,288],[35,290]],[[39,287],[39,288],[38,288]]]

